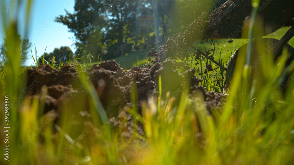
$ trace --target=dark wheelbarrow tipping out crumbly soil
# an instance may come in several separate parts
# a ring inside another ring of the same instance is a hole
[[[246,22],[249,22],[248,20],[253,10],[251,0],[228,0],[218,1],[218,3],[221,5],[212,12],[204,38],[248,38],[248,35],[242,34],[248,34],[248,28],[243,26],[246,25]],[[261,36],[256,39],[258,42],[263,42],[266,47],[271,47],[274,44],[274,47],[270,49],[271,54],[274,56],[274,60],[282,54],[283,48],[287,48],[288,59],[285,67],[288,67],[294,59],[294,48],[287,44],[294,36],[294,0],[261,0],[258,6],[258,17],[263,22],[264,35],[273,33],[283,26],[291,27],[280,40],[270,38],[261,39]],[[255,45],[254,42],[256,42],[256,40],[252,41],[252,45]],[[247,44],[240,47],[229,60],[228,67],[225,68],[226,80],[224,92],[227,92],[230,86],[230,80],[233,76],[239,50],[246,50],[246,48]],[[254,51],[254,49],[256,49],[256,47],[253,46],[250,57],[251,66],[256,64],[257,59],[260,60],[261,58],[261,55],[259,55],[257,51]],[[202,54],[205,55],[204,53]],[[218,64],[216,61],[213,62]],[[284,79],[286,81],[287,77]]]

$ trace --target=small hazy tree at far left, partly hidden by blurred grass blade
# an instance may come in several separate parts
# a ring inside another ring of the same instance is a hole
[[[32,43],[29,41],[28,38],[21,38],[21,35],[18,35],[18,40],[20,42],[20,46],[16,47],[16,52],[20,54],[21,57],[21,64],[24,64],[26,61],[28,54],[29,54],[29,49],[32,46]],[[0,62],[7,62],[6,55],[10,51],[7,45],[7,38],[4,38],[3,44],[0,46]]]

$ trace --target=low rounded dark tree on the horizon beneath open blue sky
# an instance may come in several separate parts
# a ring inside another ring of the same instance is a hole
[[[74,53],[71,51],[71,48],[68,46],[61,46],[60,48],[55,48],[51,53],[45,53],[43,56],[44,59],[48,62],[54,62],[56,65],[62,63],[67,63],[69,60],[74,60]],[[55,61],[52,61],[55,57]],[[38,59],[39,64],[42,64],[43,60]]]

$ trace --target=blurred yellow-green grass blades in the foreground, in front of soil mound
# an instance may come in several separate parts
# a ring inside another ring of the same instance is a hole
[[[246,82],[242,75],[235,84]],[[274,74],[268,76],[276,79]],[[246,86],[236,85],[223,110],[212,109],[213,115],[206,109],[201,93],[191,97],[183,92],[167,100],[161,96],[150,98],[148,104],[141,103],[142,117],[136,114],[136,108],[128,110],[134,123],[129,137],[122,134],[126,127],[105,121],[95,90],[91,84],[84,85],[92,100],[91,117],[73,118],[73,114],[84,110],[66,105],[55,123],[54,115],[42,115],[44,101],[31,98],[22,99],[9,110],[10,164],[293,163],[293,94],[282,99],[278,84],[272,81],[265,82],[254,95]],[[9,94],[13,86],[1,86],[1,101],[9,95],[9,104],[14,104],[17,97]],[[293,83],[289,86],[293,90]],[[136,96],[135,91],[132,93]],[[174,99],[179,103],[173,104]],[[1,131],[3,114],[1,111]],[[120,121],[121,125],[128,124],[126,119]],[[136,131],[138,122],[144,125],[143,135]],[[3,141],[1,148],[5,149]]]

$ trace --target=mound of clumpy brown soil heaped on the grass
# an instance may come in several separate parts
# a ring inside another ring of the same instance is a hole
[[[202,79],[194,76],[195,69],[189,69],[185,73],[179,74],[176,63],[171,59],[166,59],[163,62],[154,60],[153,63],[152,66],[133,67],[128,71],[119,67],[119,64],[114,60],[106,60],[99,65],[94,64],[86,70],[81,70],[77,66],[69,64],[64,65],[61,69],[41,65],[37,68],[28,69],[27,86],[33,86],[28,95],[39,96],[40,99],[44,99],[45,113],[50,110],[60,112],[65,104],[75,105],[79,103],[74,108],[88,108],[87,94],[81,85],[78,73],[85,72],[88,79],[93,83],[108,116],[116,117],[119,110],[134,105],[134,103],[131,103],[132,89],[137,91],[137,105],[139,113],[141,113],[140,103],[147,101],[150,97],[158,96],[157,84],[159,75],[161,75],[162,97],[169,93],[170,96],[179,98],[183,92],[182,89],[187,87],[191,97],[193,97],[193,93],[200,92],[203,94],[208,109],[222,108],[225,96],[219,93],[206,92],[203,86],[199,86]],[[45,97],[41,93],[44,89],[47,90]]]

